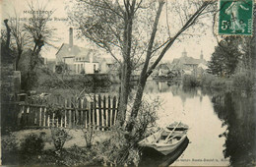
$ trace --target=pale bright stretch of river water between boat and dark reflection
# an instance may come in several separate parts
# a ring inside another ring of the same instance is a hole
[[[190,127],[190,143],[172,165],[228,165],[224,157],[226,131],[223,121],[217,116],[212,95],[200,88],[185,88],[178,84],[147,83],[145,96],[159,96],[162,105],[158,111],[158,125],[165,127],[174,121],[181,121]]]

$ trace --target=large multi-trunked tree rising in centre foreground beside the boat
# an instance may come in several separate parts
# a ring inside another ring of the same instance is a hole
[[[79,30],[78,35],[90,39],[97,46],[105,49],[122,67],[119,106],[121,125],[125,125],[123,123],[126,117],[132,67],[136,67],[136,64],[142,67],[131,114],[126,124],[128,132],[133,131],[147,79],[174,41],[183,31],[195,25],[203,11],[214,2],[185,1],[184,4],[190,8],[189,11],[193,12],[187,13],[182,8],[184,16],[179,13],[178,20],[181,21],[181,27],[177,31],[170,31],[169,27],[166,30],[161,28],[160,14],[164,4],[163,0],[157,2],[116,0],[114,3],[110,0],[84,0],[79,1],[72,12],[69,12],[72,25]],[[171,5],[176,9],[180,6],[178,2],[172,2]],[[168,10],[166,15],[167,13]],[[173,23],[171,26],[174,25]],[[116,56],[118,54],[122,55],[121,61]]]

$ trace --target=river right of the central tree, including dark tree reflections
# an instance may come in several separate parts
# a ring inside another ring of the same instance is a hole
[[[188,146],[171,165],[229,166],[255,163],[255,97],[148,82],[145,97],[159,96],[158,126],[173,121],[189,126]]]

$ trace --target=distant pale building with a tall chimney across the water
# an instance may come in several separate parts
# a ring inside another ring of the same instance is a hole
[[[73,28],[69,29],[69,43],[63,43],[56,53],[56,67],[63,66],[62,71],[69,74],[107,73],[113,64],[94,49],[74,45]]]

